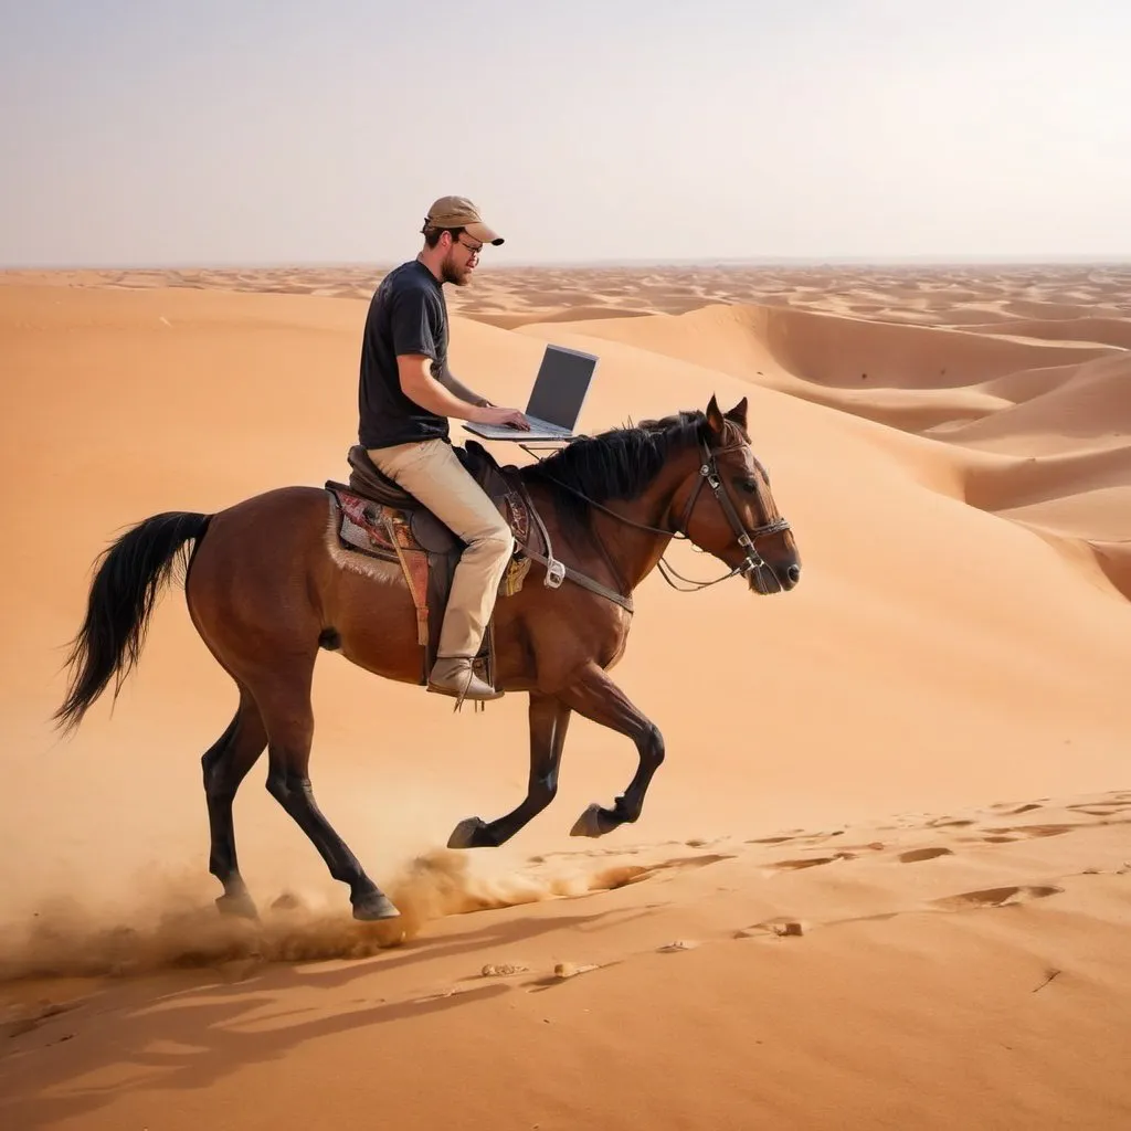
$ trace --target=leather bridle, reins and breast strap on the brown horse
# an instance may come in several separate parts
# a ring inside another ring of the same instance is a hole
[[[699,441],[699,448],[702,454],[702,463],[697,472],[698,478],[696,481],[694,489],[688,497],[688,501],[683,507],[683,511],[680,515],[679,521],[676,521],[672,527],[661,527],[661,526],[648,526],[646,523],[637,523],[630,518],[625,518],[623,515],[618,515],[616,511],[610,510],[607,507],[603,507],[598,502],[594,502],[588,495],[582,494],[580,491],[576,490],[562,483],[559,480],[549,476],[553,483],[558,486],[563,487],[571,494],[577,495],[579,499],[587,502],[590,507],[596,508],[599,511],[615,518],[618,521],[625,526],[631,526],[638,530],[647,530],[650,534],[662,534],[674,539],[682,539],[684,542],[690,542],[691,538],[688,535],[688,524],[691,521],[691,513],[694,510],[696,502],[699,500],[699,493],[702,491],[703,484],[710,487],[711,493],[718,500],[719,507],[723,508],[723,513],[726,516],[727,521],[731,524],[731,529],[734,532],[737,538],[739,545],[745,551],[745,558],[742,562],[735,566],[728,573],[724,573],[722,577],[715,578],[713,581],[697,581],[692,578],[683,577],[679,573],[671,564],[668,564],[664,558],[659,559],[658,567],[661,577],[677,593],[696,593],[699,589],[709,588],[713,585],[718,585],[719,581],[726,581],[736,575],[742,575],[745,577],[748,573],[758,573],[761,569],[768,569],[774,580],[777,582],[778,587],[782,587],[780,580],[774,572],[774,568],[767,562],[761,554],[759,554],[757,546],[754,545],[754,538],[766,537],[771,534],[780,534],[784,530],[789,529],[789,524],[785,518],[778,517],[774,519],[772,523],[763,523],[761,526],[756,526],[752,530],[748,530],[745,524],[739,516],[734,503],[731,501],[729,494],[727,494],[726,487],[723,486],[723,480],[719,475],[717,457],[725,455],[728,451],[737,451],[745,447],[742,443],[732,444],[726,448],[711,448],[705,441]],[[546,546],[546,556],[543,558],[541,554],[527,550],[527,554],[535,561],[542,562],[546,567],[546,581],[545,584],[550,588],[558,588],[564,578],[570,578],[570,580],[576,581],[584,588],[589,589],[593,593],[597,593],[601,596],[607,597],[610,601],[615,602],[622,608],[627,608],[630,613],[632,612],[632,598],[625,597],[622,594],[615,593],[608,589],[606,586],[601,585],[598,581],[594,581],[592,578],[586,577],[584,573],[578,573],[577,570],[564,566],[554,559],[553,552],[550,549],[550,535],[546,532],[545,526],[542,523],[542,518],[538,516],[536,508],[534,507],[533,500],[527,495],[527,503],[530,508],[530,513],[534,516],[535,524],[538,527],[542,538]],[[598,539],[599,543],[599,539]],[[696,547],[699,549],[698,546]],[[604,546],[602,546],[604,552]],[[702,551],[701,551],[702,552]],[[606,560],[608,559],[607,552],[605,552]],[[681,589],[671,577],[679,578],[681,581],[690,585],[690,589]]]

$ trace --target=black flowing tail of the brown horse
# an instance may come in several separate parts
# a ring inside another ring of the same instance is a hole
[[[83,722],[111,679],[114,698],[138,662],[149,618],[187,543],[204,537],[210,516],[185,511],[154,515],[127,530],[95,561],[86,620],[70,644],[67,699],[52,716],[64,731]],[[100,564],[101,563],[101,564]]]

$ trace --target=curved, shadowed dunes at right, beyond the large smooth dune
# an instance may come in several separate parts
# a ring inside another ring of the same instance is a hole
[[[1068,331],[1030,336],[1047,337],[1046,344],[1000,333],[1016,328],[1005,322],[957,331],[749,305],[579,320],[570,329],[696,359],[888,429],[943,440],[949,460],[938,451],[901,449],[920,482],[931,482],[924,465],[942,459],[953,474],[936,470],[938,489],[951,493],[943,484],[960,478],[972,506],[1090,547],[1097,563],[1098,543],[1105,543],[1103,573],[1125,594],[1120,543],[1131,539],[1131,355],[1119,345],[1085,345],[1096,320],[1078,321],[1080,338]],[[547,336],[552,327],[528,325],[524,333]],[[883,440],[889,449],[891,441]],[[1015,458],[983,461],[969,447]]]

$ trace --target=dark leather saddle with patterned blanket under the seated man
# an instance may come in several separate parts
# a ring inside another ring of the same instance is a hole
[[[481,443],[469,440],[466,447],[452,450],[515,536],[515,554],[499,585],[500,596],[512,596],[523,588],[530,569],[527,550],[533,504],[518,469],[500,467]],[[416,640],[422,649],[420,682],[426,683],[465,543],[418,499],[379,470],[361,444],[348,450],[346,461],[351,468],[348,483],[326,481],[326,490],[337,504],[338,542],[343,549],[399,563],[416,606]],[[476,674],[490,683],[494,682],[493,625],[494,618],[487,623],[474,661]]]

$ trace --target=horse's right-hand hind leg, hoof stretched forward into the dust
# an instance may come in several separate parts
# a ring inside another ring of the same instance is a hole
[[[365,874],[357,857],[322,815],[310,784],[310,746],[314,715],[310,703],[310,670],[293,672],[257,689],[257,701],[267,728],[267,789],[310,838],[330,875],[349,886],[354,918],[396,918],[400,912]]]

